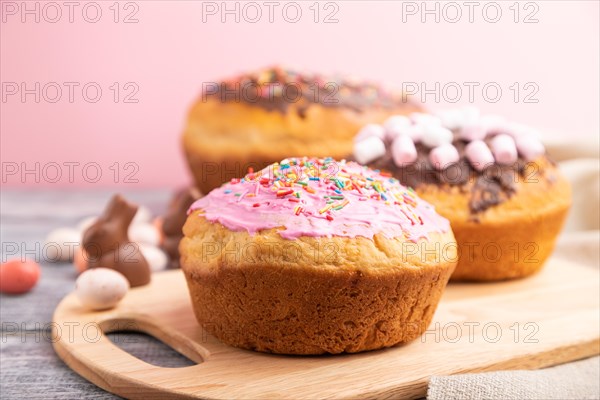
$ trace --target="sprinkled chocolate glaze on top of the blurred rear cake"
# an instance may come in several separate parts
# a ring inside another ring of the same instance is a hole
[[[356,112],[371,107],[415,107],[412,102],[375,84],[335,76],[300,74],[281,67],[267,68],[220,82],[218,88],[206,90],[204,97],[217,98],[221,102],[244,102],[283,114],[295,105],[301,118],[306,117],[312,104],[345,107]]]

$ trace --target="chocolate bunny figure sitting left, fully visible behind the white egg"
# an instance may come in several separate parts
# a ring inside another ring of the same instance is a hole
[[[122,273],[131,287],[150,282],[150,266],[139,246],[129,240],[127,229],[137,206],[115,195],[104,213],[83,234],[88,268],[111,268]]]

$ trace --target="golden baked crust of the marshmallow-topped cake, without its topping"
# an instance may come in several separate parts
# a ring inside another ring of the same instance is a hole
[[[419,195],[450,220],[460,246],[452,280],[497,281],[538,272],[548,259],[571,206],[567,180],[545,157],[537,173],[517,175],[515,195],[473,216],[469,185],[423,185]]]

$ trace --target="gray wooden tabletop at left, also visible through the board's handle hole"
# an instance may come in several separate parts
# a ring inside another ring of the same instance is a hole
[[[57,227],[101,212],[114,192],[21,191],[0,194],[2,261],[20,254],[38,257],[42,274],[37,286],[21,296],[0,295],[0,398],[2,399],[112,399],[71,371],[54,353],[50,338],[52,313],[75,285],[70,263],[41,259],[46,234]],[[126,198],[144,204],[155,214],[164,210],[170,190],[122,191]],[[19,254],[10,255],[17,246]],[[36,247],[37,246],[37,247]],[[157,340],[141,334],[118,333],[112,340],[134,356],[160,366],[180,367],[192,362]]]

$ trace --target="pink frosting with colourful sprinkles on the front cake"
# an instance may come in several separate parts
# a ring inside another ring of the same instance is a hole
[[[416,242],[450,229],[448,220],[398,180],[330,158],[290,158],[249,173],[197,200],[188,213],[195,210],[233,231],[279,228],[284,239],[381,233]]]

